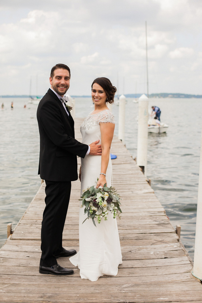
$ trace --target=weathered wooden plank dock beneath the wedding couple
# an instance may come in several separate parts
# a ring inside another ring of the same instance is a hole
[[[75,123],[76,138],[80,141],[81,121],[76,119]],[[43,183],[14,233],[0,250],[0,302],[202,302],[200,281],[191,275],[192,261],[153,189],[116,137],[111,153],[117,155],[117,159],[112,160],[113,181],[121,194],[123,211],[121,220],[118,220],[123,255],[118,275],[103,276],[96,282],[82,280],[78,268],[68,258],[58,259],[59,264],[74,268],[74,275],[39,274],[40,231],[45,206]],[[63,246],[77,250],[79,196],[80,182],[74,181]]]

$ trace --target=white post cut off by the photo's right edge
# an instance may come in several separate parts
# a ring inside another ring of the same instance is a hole
[[[202,281],[202,134],[200,144],[200,165],[198,181],[198,202],[196,217],[196,236],[194,248],[194,269],[192,275]]]

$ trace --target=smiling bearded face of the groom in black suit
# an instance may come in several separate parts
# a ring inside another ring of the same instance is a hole
[[[53,78],[50,77],[51,88],[58,93],[58,95],[64,96],[70,85],[70,75],[68,70],[58,68],[54,71]]]

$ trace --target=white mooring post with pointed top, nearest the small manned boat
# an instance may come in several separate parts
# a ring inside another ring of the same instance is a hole
[[[146,95],[139,98],[138,131],[137,131],[137,165],[147,178],[147,138],[148,138],[148,105]]]

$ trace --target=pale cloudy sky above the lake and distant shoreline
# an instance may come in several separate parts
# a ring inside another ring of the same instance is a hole
[[[70,95],[108,77],[119,94],[202,94],[201,0],[7,0],[0,5],[0,95],[44,95],[53,65]]]

